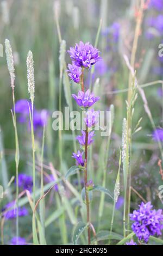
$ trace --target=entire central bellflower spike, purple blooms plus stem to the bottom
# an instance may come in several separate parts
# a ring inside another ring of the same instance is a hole
[[[82,135],[77,136],[77,140],[80,144],[80,147],[83,148],[83,151],[77,151],[73,153],[72,157],[76,160],[76,165],[84,170],[84,187],[85,187],[85,198],[87,205],[87,223],[90,222],[89,216],[89,190],[92,189],[93,181],[87,181],[87,149],[89,145],[93,142],[93,136],[95,136],[95,131],[91,131],[98,123],[99,111],[90,109],[98,100],[99,97],[95,96],[90,89],[87,89],[85,92],[84,88],[84,70],[90,69],[92,65],[101,60],[99,57],[99,51],[97,48],[93,47],[89,42],[80,41],[76,46],[70,47],[70,58],[72,59],[72,65],[68,64],[68,76],[75,82],[80,83],[81,90],[78,92],[78,95],[72,94],[72,97],[76,101],[77,105],[86,112],[84,122],[86,125],[86,130],[81,131]],[[83,157],[84,155],[84,157]],[[90,245],[90,227],[88,228],[88,243]]]

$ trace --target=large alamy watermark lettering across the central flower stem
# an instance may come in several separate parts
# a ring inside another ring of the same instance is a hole
[[[101,131],[101,136],[109,136],[111,133],[111,112],[110,111],[97,111],[95,125],[93,116],[88,117],[92,121],[93,130]],[[72,130],[80,131],[86,130],[84,119],[86,118],[86,111],[70,111],[69,107],[65,107],[64,113],[61,111],[54,111],[52,114],[53,123],[52,128],[54,131],[58,130]],[[91,125],[90,125],[91,127]],[[90,129],[91,130],[91,129]]]

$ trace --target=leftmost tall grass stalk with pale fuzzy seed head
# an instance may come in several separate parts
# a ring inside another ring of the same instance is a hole
[[[12,102],[13,111],[12,121],[14,124],[15,131],[15,164],[16,164],[16,237],[18,237],[18,165],[20,161],[19,145],[18,145],[18,135],[17,135],[17,125],[16,125],[16,113],[15,113],[15,69],[14,69],[14,59],[12,56],[12,48],[8,39],[5,39],[5,53],[7,57],[8,70],[10,74],[10,84],[12,88]]]

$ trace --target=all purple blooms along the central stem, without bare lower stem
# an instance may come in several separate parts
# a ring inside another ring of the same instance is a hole
[[[76,83],[82,83],[84,68],[90,68],[98,62],[98,60],[101,60],[101,57],[99,57],[99,51],[89,42],[84,44],[80,41],[74,48],[70,47],[70,51],[68,51],[68,53],[72,59],[72,65],[68,64],[68,70],[66,71],[68,72],[68,76],[70,76],[70,78]],[[99,100],[99,97],[95,96],[93,92],[90,92],[90,89],[87,89],[86,92],[84,92],[82,84],[81,88],[82,90],[78,92],[78,95],[72,94],[72,97],[76,100],[78,106],[87,110],[84,121],[86,126],[91,129],[91,127],[98,123],[99,112],[89,108]],[[84,147],[86,143],[86,131],[81,132],[82,135],[77,136],[77,140],[79,144]],[[95,132],[89,131],[87,136],[87,145],[90,145],[93,142],[93,136],[95,136]],[[73,153],[72,155],[72,157],[76,159],[76,164],[82,167],[85,164],[83,154],[84,151],[80,152],[78,150],[77,153]]]

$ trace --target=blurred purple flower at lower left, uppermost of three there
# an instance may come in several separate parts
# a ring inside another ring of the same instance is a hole
[[[29,190],[31,192],[33,187],[32,176],[26,175],[24,173],[18,174],[18,187],[20,187],[22,190]]]

